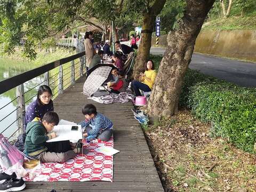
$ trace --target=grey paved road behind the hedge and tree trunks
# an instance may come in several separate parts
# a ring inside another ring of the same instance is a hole
[[[150,53],[160,55],[164,51],[165,48],[152,47]],[[256,87],[256,63],[194,53],[189,68],[237,85]]]

